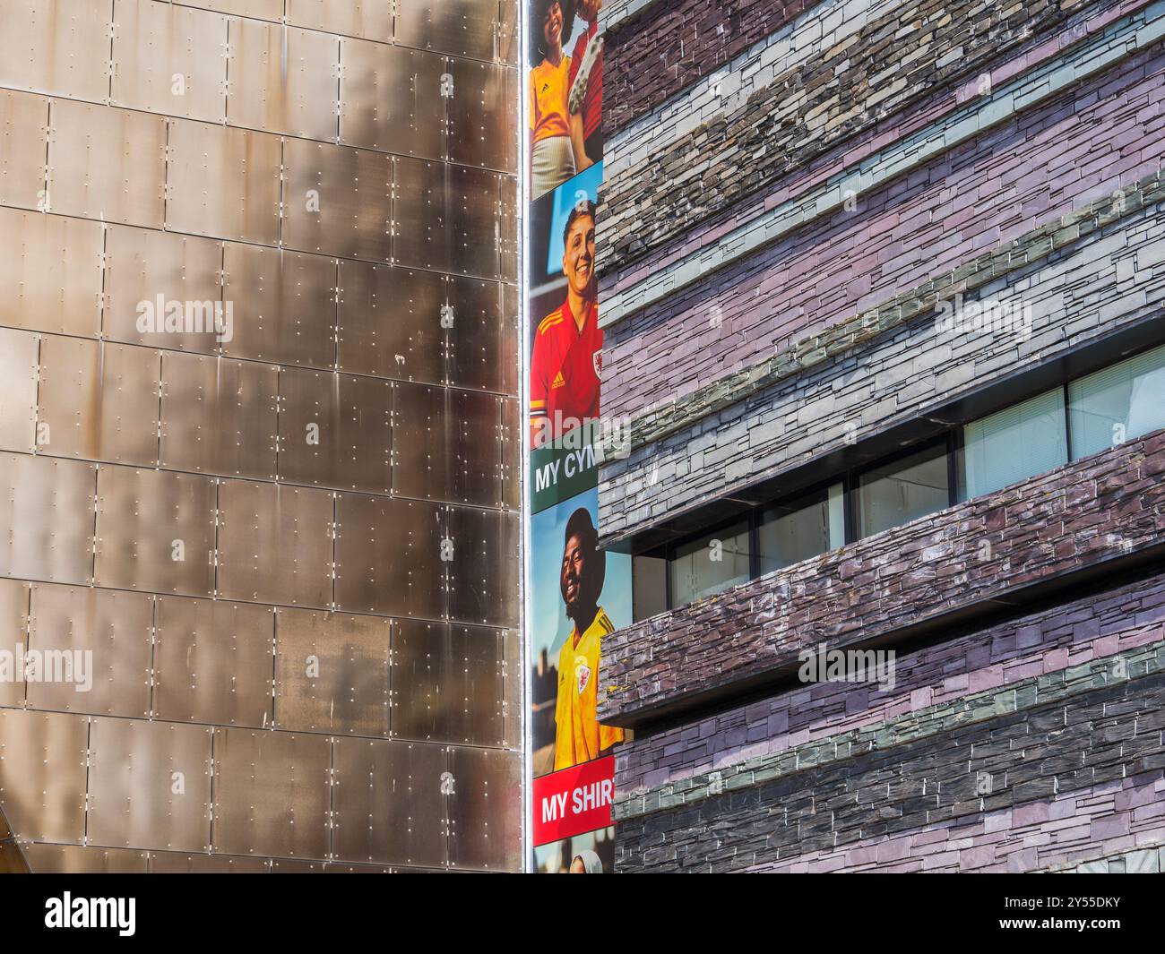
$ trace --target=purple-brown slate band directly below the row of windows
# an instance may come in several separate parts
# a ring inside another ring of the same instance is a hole
[[[1157,431],[617,630],[603,643],[599,718],[642,723],[796,667],[819,643],[933,626],[1152,551],[1165,543],[1163,475]]]

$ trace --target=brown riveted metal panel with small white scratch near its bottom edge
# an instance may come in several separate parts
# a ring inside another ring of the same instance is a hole
[[[340,262],[340,369],[442,383],[445,284],[432,271]]]

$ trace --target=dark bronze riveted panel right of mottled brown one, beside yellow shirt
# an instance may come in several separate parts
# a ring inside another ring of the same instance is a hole
[[[500,745],[501,631],[393,623],[393,736]]]

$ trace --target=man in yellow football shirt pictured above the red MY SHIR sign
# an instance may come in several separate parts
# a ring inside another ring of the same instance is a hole
[[[606,553],[591,514],[580,507],[566,522],[559,588],[566,617],[574,626],[558,653],[558,702],[555,707],[555,771],[598,758],[623,730],[599,725],[599,655],[602,638],[615,627],[599,606],[606,577]]]

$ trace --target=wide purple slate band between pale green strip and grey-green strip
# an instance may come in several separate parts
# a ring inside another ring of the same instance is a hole
[[[608,328],[603,412],[691,393],[1136,182],[1163,154],[1156,50],[891,183],[860,214],[840,211]]]

